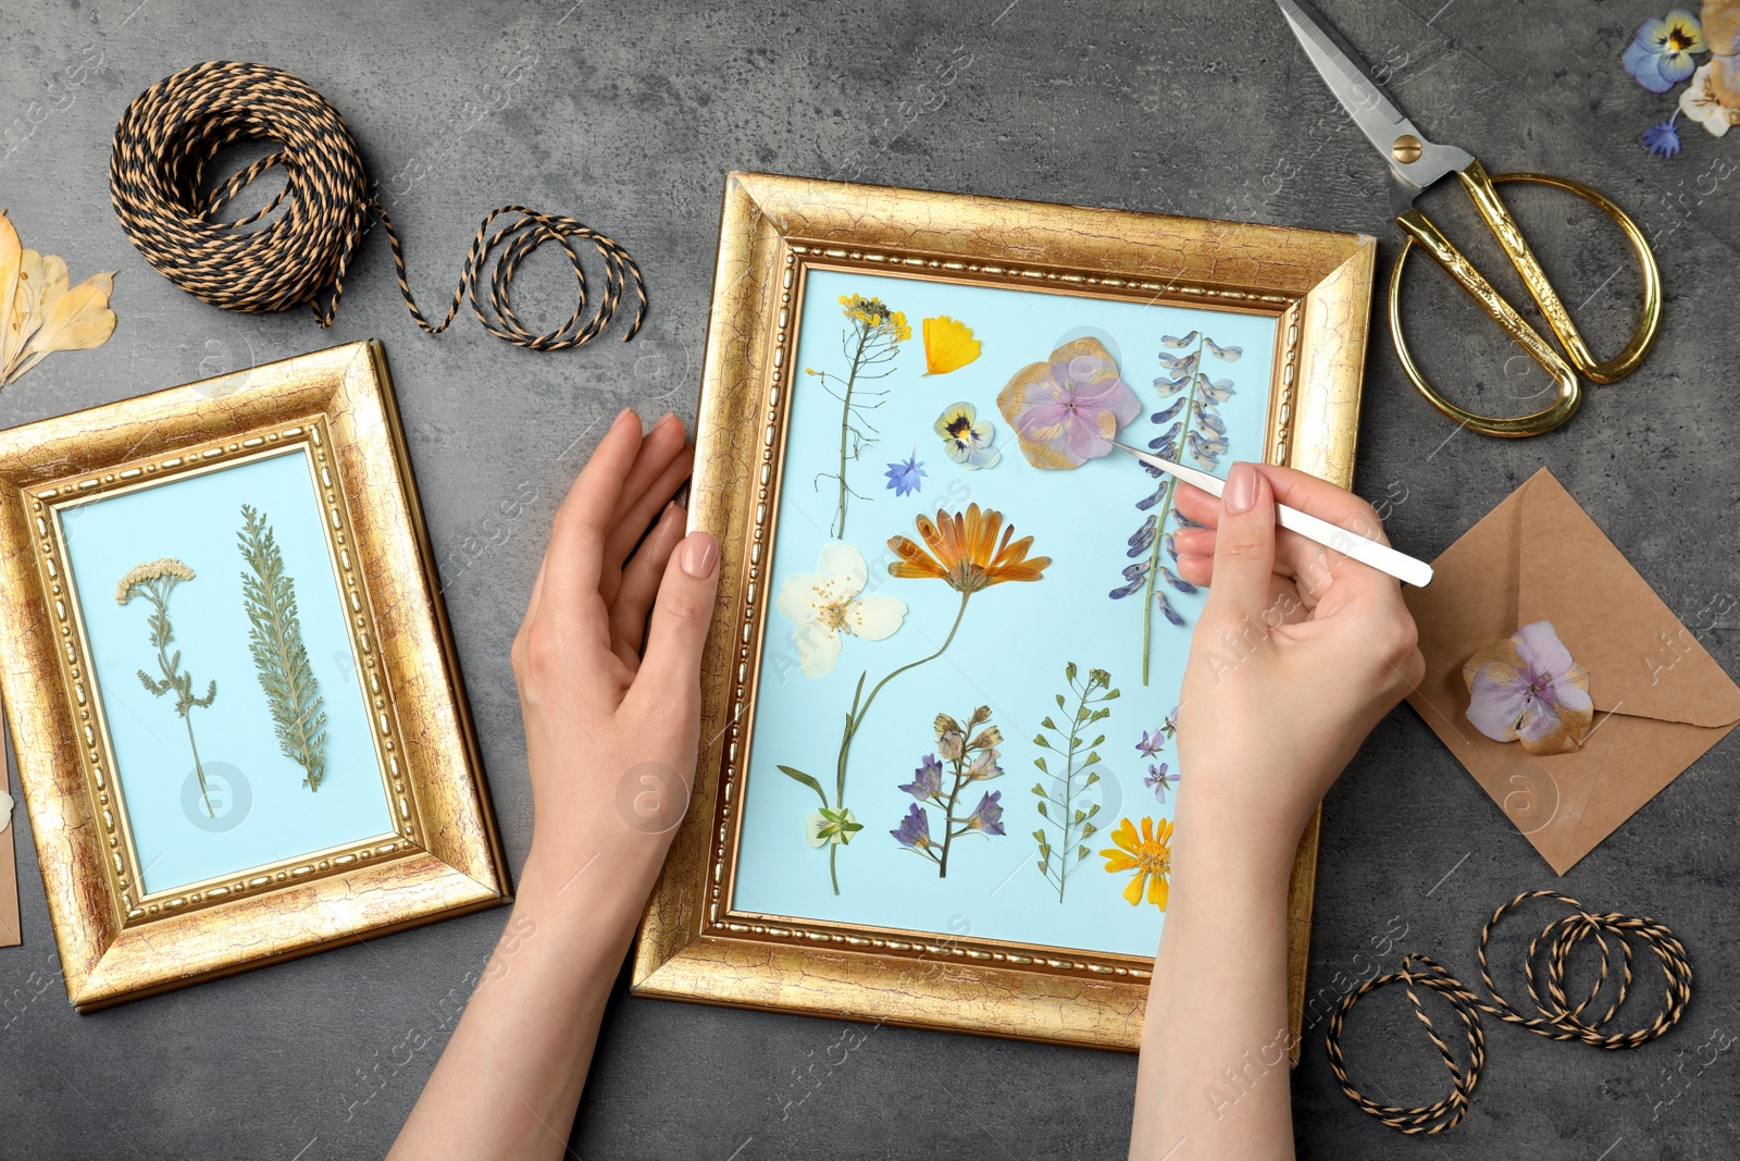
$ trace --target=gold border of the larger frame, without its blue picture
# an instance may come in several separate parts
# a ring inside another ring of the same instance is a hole
[[[703,745],[689,813],[640,926],[633,992],[1134,1050],[1152,957],[731,907],[800,289],[809,272],[846,270],[1270,315],[1267,458],[1345,487],[1375,254],[1364,235],[731,174],[689,510],[722,550]],[[1295,1032],[1317,830],[1314,818],[1291,884]]]

